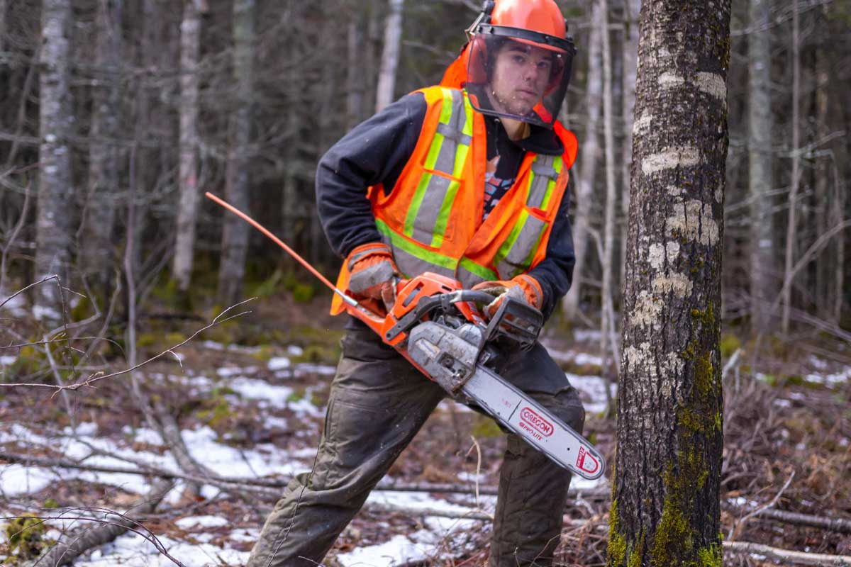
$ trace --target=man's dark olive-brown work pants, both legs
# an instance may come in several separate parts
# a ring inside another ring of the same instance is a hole
[[[321,564],[445,395],[373,332],[350,331],[342,346],[313,471],[298,475],[284,490],[248,567]],[[579,396],[540,344],[525,353],[504,351],[496,371],[581,433],[585,411]],[[491,567],[552,563],[569,484],[570,473],[508,435]]]

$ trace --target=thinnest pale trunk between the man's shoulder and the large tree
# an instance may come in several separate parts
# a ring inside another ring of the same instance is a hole
[[[618,201],[614,173],[614,125],[612,99],[612,48],[611,34],[608,31],[608,0],[600,0],[603,12],[603,145],[606,153],[606,213],[603,222],[603,287],[601,291],[603,315],[601,320],[600,352],[603,355],[603,373],[608,373],[608,354],[614,347],[610,333],[614,333],[614,247],[617,246],[615,207]]]

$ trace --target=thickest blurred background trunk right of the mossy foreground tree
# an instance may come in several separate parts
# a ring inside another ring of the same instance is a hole
[[[748,156],[751,198],[751,318],[754,330],[768,329],[768,308],[776,296],[771,190],[771,37],[769,0],[750,0],[748,37]]]

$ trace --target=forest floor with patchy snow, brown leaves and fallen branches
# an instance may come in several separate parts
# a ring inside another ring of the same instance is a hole
[[[342,320],[324,315],[318,301],[305,306],[266,298],[250,309],[254,313],[209,329],[135,372],[151,399],[177,417],[191,455],[212,473],[238,480],[203,483],[193,493],[174,479],[164,501],[135,531],[83,554],[76,565],[242,565],[282,486],[311,469]],[[7,305],[0,316],[10,321],[9,336],[0,336],[4,344],[33,335],[20,305]],[[140,319],[139,360],[204,325]],[[722,535],[725,542],[774,551],[748,553],[728,543],[724,564],[799,562],[775,557],[780,550],[851,555],[851,345],[827,342],[768,341],[758,359],[748,352],[755,345],[745,343],[738,362],[728,365]],[[605,415],[598,343],[591,331],[545,336],[585,402],[585,435],[613,463],[616,423]],[[109,343],[98,352],[114,356],[119,346]],[[84,349],[75,348],[77,354]],[[738,349],[728,343],[727,350]],[[71,379],[63,368],[63,356],[71,354],[59,347],[53,354],[52,366]],[[0,380],[55,384],[50,362],[31,347],[2,349]],[[75,362],[83,377],[123,367],[115,359],[102,367]],[[110,511],[132,516],[157,475],[180,471],[132,390],[130,375],[123,374],[60,394],[36,387],[0,391],[5,564],[24,564],[56,541],[71,541],[80,529],[113,521],[117,516]],[[325,564],[484,564],[504,443],[492,421],[443,401]],[[608,480],[574,479],[571,488],[557,562],[603,565]],[[817,523],[811,517],[840,521],[814,527],[788,513],[805,515],[809,524]],[[46,520],[23,519],[28,516]]]

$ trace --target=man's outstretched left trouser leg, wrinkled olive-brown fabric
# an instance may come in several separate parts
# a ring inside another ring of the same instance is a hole
[[[443,389],[373,332],[348,332],[342,347],[313,471],[290,481],[248,567],[320,564],[443,399]]]

